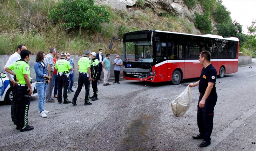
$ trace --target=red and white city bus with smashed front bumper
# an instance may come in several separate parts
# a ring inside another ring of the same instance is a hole
[[[183,79],[200,76],[199,53],[207,50],[217,75],[223,78],[237,72],[238,46],[235,37],[159,30],[128,32],[123,36],[123,77],[179,84]]]

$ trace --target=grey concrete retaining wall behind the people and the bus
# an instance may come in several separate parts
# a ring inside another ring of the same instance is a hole
[[[9,59],[9,56],[10,55],[0,55],[0,71],[1,72],[5,72],[4,71],[4,67],[5,67],[5,64],[7,62],[7,60]],[[114,78],[114,66],[112,65],[112,63],[114,62],[115,60],[115,57],[116,55],[113,54],[110,56],[110,78]],[[78,60],[81,58],[82,56],[78,56],[78,55],[71,55],[71,58],[74,60],[74,63],[75,63],[75,73],[74,73],[74,76],[75,76],[75,81],[78,80],[78,69],[77,69],[77,65],[78,65]],[[103,57],[105,58],[106,55],[103,55]],[[29,66],[30,66],[30,76],[32,78],[35,79],[35,70],[34,70],[34,63],[35,63],[35,58],[36,58],[36,55],[31,55],[31,60],[29,61]],[[120,58],[122,59],[123,58],[123,55],[120,55]],[[238,58],[238,66],[242,66],[242,65],[249,65],[251,64],[251,56],[239,56]],[[120,77],[123,75],[123,71],[121,70],[120,71]],[[103,70],[101,72],[101,79],[103,80],[103,77],[104,77],[104,73],[103,73]]]

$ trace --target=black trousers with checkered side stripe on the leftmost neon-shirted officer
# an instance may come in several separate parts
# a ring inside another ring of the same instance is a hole
[[[16,126],[18,127],[26,127],[28,124],[28,110],[31,98],[31,95],[28,95],[28,92],[28,86],[16,86]]]

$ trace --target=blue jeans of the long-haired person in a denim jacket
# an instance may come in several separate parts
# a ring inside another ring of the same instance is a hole
[[[47,89],[47,83],[36,83],[36,89],[38,90],[38,110],[40,113],[44,110],[45,95]]]

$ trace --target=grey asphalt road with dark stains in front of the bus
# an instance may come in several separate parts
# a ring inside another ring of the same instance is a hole
[[[15,129],[11,106],[1,104],[0,150],[255,151],[256,66],[239,67],[237,73],[217,79],[214,128],[207,148],[200,148],[202,140],[191,137],[198,134],[198,87],[192,88],[193,103],[185,115],[176,117],[170,109],[170,102],[197,80],[180,85],[138,81],[100,84],[99,100],[92,101],[93,105],[83,106],[83,89],[77,106],[45,103],[47,118],[41,118],[37,97],[33,97],[28,120],[35,129],[26,132]]]

